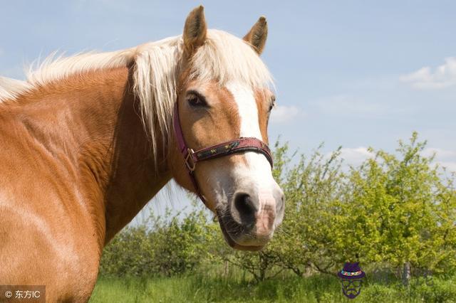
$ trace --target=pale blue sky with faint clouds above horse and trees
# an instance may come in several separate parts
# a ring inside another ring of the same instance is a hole
[[[0,75],[54,50],[116,50],[182,32],[203,4],[209,28],[244,36],[269,22],[264,61],[276,79],[269,132],[309,152],[393,151],[416,130],[456,171],[455,1],[4,1]]]

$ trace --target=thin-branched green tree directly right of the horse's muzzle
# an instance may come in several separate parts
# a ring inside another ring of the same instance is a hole
[[[287,151],[287,146],[278,150]],[[301,155],[295,166],[282,172],[286,216],[272,245],[280,265],[296,275],[304,275],[312,268],[332,273],[335,265],[333,246],[328,238],[332,228],[329,206],[341,190],[340,149],[330,156],[321,154],[320,150],[321,147],[309,158]],[[280,156],[285,164],[290,163],[291,159],[284,153]]]

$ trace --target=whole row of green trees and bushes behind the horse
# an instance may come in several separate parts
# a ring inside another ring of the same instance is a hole
[[[291,154],[277,142],[274,178],[286,196],[285,217],[261,252],[229,248],[217,223],[195,203],[186,216],[170,211],[126,228],[103,252],[102,275],[176,275],[206,264],[232,264],[261,281],[283,270],[336,274],[343,262],[450,273],[456,270],[456,191],[423,156],[413,133],[394,153],[343,169],[341,149]]]

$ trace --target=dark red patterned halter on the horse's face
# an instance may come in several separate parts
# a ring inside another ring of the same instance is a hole
[[[272,154],[269,147],[266,143],[257,138],[241,137],[239,139],[234,139],[194,151],[193,149],[187,147],[187,144],[185,144],[182,127],[180,126],[179,106],[177,102],[174,107],[174,115],[172,119],[177,146],[185,159],[185,168],[187,169],[187,173],[193,186],[195,187],[197,195],[204,204],[206,204],[206,198],[202,195],[195,177],[195,167],[197,162],[218,158],[219,156],[228,156],[230,154],[237,154],[245,151],[254,151],[266,156],[266,159],[269,161],[269,164],[271,164],[271,167],[273,166]]]

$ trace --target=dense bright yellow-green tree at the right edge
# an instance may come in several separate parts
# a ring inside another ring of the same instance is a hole
[[[341,256],[403,267],[405,285],[410,267],[456,265],[455,191],[442,181],[434,157],[423,156],[425,146],[413,133],[408,144],[399,142],[399,157],[376,151],[351,170],[347,190],[333,203],[331,225],[340,228],[332,237]]]

